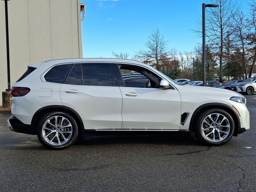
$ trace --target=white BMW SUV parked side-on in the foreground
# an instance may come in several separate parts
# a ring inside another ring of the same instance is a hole
[[[122,73],[127,71],[148,80],[133,78],[126,84]],[[29,65],[11,94],[10,130],[37,135],[51,149],[66,148],[91,133],[131,132],[194,132],[201,142],[216,146],[250,127],[241,94],[181,86],[133,60],[63,59]]]

